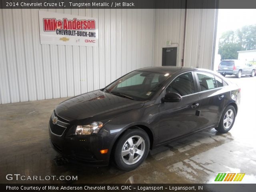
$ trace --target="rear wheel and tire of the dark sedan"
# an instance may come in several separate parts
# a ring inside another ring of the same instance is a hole
[[[232,105],[226,107],[223,111],[220,123],[217,128],[218,132],[227,133],[234,125],[236,119],[236,110]]]

